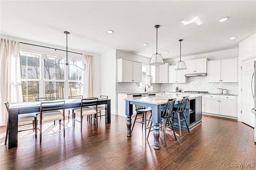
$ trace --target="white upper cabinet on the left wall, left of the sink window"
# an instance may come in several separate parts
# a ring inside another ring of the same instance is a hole
[[[117,82],[142,81],[142,63],[129,61],[126,59],[117,59]]]

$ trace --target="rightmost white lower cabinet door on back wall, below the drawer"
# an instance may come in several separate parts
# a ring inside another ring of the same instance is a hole
[[[220,99],[220,115],[236,117],[236,100]]]

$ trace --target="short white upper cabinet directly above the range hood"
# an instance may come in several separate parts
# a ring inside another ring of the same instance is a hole
[[[186,61],[186,74],[207,73],[207,59],[193,59]]]

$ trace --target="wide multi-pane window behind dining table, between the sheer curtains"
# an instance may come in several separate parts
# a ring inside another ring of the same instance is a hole
[[[82,70],[74,65],[64,64],[64,59],[56,60],[48,55],[46,65],[40,61],[40,55],[28,52],[20,52],[21,80],[23,101],[35,101],[38,97],[55,97],[67,99],[71,95],[81,95]],[[69,63],[72,63],[69,61]],[[82,61],[74,64],[82,67]],[[67,88],[66,88],[67,87]]]

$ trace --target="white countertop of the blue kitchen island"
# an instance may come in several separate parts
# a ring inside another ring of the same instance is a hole
[[[175,99],[176,101],[182,101],[182,97],[189,96],[188,99],[195,99],[196,97],[202,97],[202,95],[182,95],[182,94],[170,94],[170,95],[159,95],[155,97],[140,97],[140,98],[131,98],[131,99],[124,99],[126,101],[135,101],[141,103],[150,103],[154,105],[162,105],[167,103],[168,99]]]

